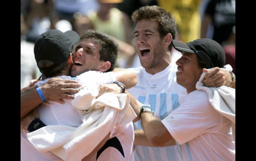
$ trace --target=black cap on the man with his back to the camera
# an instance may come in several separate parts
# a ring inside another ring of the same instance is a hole
[[[72,45],[79,41],[79,35],[74,31],[61,32],[59,30],[48,30],[41,34],[36,40],[34,46],[35,59],[38,62],[40,60],[50,60],[54,64],[47,68],[54,68],[61,65],[67,60],[69,53],[72,51]],[[46,69],[40,68],[39,69]]]

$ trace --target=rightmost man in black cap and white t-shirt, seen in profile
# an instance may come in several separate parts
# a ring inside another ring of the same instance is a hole
[[[150,106],[142,108],[141,124],[147,139],[156,146],[175,139],[179,160],[235,160],[230,120],[213,108],[205,91],[196,89],[203,68],[223,68],[223,48],[210,39],[187,44],[173,40],[173,46],[182,52],[176,61],[177,83],[186,88],[188,95],[162,121],[154,117]]]

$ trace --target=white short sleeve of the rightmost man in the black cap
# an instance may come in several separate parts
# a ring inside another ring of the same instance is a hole
[[[188,95],[185,101],[170,113],[162,123],[181,145],[205,132],[218,129],[221,115],[210,105],[204,91]]]

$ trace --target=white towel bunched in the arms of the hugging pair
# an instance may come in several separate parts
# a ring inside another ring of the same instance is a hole
[[[76,109],[80,116],[83,115],[83,123],[80,126],[75,128],[64,125],[48,125],[28,133],[29,141],[40,152],[51,151],[67,161],[81,160],[100,143],[114,126],[125,125],[136,118],[137,115],[129,105],[129,95],[106,93],[95,99],[95,90],[97,89],[83,86],[80,90],[81,93],[86,93],[90,99],[85,97],[84,102],[77,103],[76,101],[79,102],[83,97],[80,95],[77,100],[71,101],[79,109],[86,109],[85,111]]]

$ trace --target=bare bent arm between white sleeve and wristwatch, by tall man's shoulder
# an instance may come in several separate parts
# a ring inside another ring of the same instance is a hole
[[[127,69],[115,69],[113,70],[116,76],[116,80],[122,82],[126,89],[132,88],[137,84],[137,75],[132,70]]]

